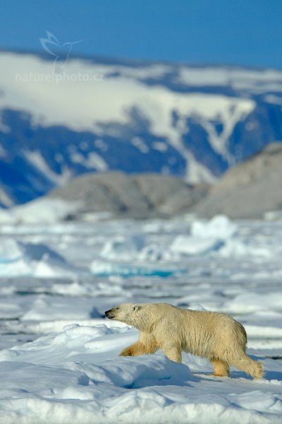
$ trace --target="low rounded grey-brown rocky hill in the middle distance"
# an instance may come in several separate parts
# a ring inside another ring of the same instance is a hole
[[[82,175],[46,199],[76,204],[68,219],[90,219],[93,213],[122,218],[171,217],[185,213],[207,196],[209,186],[186,184],[169,175],[105,172]]]

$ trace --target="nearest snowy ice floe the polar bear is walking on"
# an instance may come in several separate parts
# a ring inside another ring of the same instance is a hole
[[[127,326],[73,324],[1,351],[2,422],[279,422],[282,373],[275,361],[265,361],[266,381],[243,379],[237,371],[217,379],[200,374],[212,368],[190,355],[183,364],[162,353],[118,357],[136,338]],[[267,379],[268,367],[276,379]]]

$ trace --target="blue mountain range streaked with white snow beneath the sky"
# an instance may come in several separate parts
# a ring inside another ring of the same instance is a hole
[[[214,182],[282,139],[282,71],[0,52],[0,204],[85,172]]]

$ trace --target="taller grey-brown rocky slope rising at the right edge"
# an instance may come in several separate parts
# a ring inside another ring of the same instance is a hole
[[[282,143],[270,144],[228,171],[192,210],[207,218],[217,213],[262,218],[269,211],[282,211]]]

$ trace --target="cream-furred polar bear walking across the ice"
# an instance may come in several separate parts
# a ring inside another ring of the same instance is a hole
[[[181,362],[181,352],[185,351],[208,358],[214,376],[228,377],[230,365],[254,378],[263,375],[262,363],[245,353],[247,334],[243,325],[226,314],[167,303],[123,303],[105,314],[140,330],[138,341],[125,348],[121,356],[146,355],[161,348],[169,359]]]

